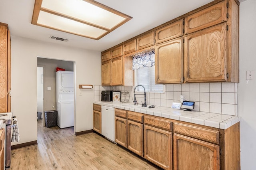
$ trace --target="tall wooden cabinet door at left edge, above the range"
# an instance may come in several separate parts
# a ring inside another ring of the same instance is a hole
[[[0,24],[0,113],[8,111],[8,25]]]

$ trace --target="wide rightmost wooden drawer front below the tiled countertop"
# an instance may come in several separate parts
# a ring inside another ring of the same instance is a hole
[[[174,123],[174,132],[178,132],[181,134],[185,134],[185,135],[206,140],[209,142],[214,142],[216,144],[220,143],[219,141],[220,134],[218,130],[195,127],[195,126],[185,125],[181,123]]]

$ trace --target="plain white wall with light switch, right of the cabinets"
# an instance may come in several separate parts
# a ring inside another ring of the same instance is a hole
[[[241,169],[256,169],[256,75],[246,80],[247,70],[256,70],[256,1],[240,4],[240,53],[238,83],[238,115],[240,121]],[[255,72],[256,73],[256,72]]]

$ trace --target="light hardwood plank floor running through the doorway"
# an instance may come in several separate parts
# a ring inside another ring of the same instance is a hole
[[[42,127],[38,145],[12,150],[11,170],[157,170],[158,167],[96,133]],[[22,138],[22,136],[21,136]]]

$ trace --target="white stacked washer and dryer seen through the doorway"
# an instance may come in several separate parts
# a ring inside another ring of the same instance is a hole
[[[57,125],[60,128],[74,126],[74,72],[56,72]]]

